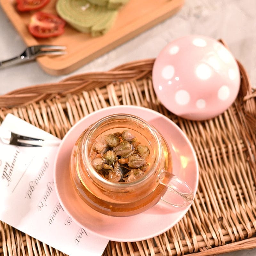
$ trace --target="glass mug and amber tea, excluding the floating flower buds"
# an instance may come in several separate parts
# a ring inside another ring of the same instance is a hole
[[[137,180],[113,182],[94,169],[92,147],[97,138],[123,130],[130,131],[141,145],[148,146],[148,169]],[[87,205],[110,216],[138,214],[159,200],[168,207],[187,206],[193,200],[191,188],[172,174],[172,156],[162,135],[143,119],[127,114],[106,116],[80,135],[70,157],[70,177]],[[173,193],[181,198],[181,203],[172,203]]]

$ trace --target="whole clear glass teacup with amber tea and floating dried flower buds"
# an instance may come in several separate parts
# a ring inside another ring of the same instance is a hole
[[[110,216],[138,214],[159,200],[167,207],[193,200],[191,188],[172,174],[162,135],[133,115],[106,116],[88,127],[73,147],[70,177],[87,205]],[[174,194],[178,203],[172,202]]]

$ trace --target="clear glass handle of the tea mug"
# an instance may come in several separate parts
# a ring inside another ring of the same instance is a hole
[[[171,172],[165,171],[164,168],[159,172],[157,181],[167,187],[167,191],[161,198],[164,202],[175,207],[185,207],[193,201],[194,194],[188,184]],[[174,194],[177,195],[177,202],[174,202]]]

